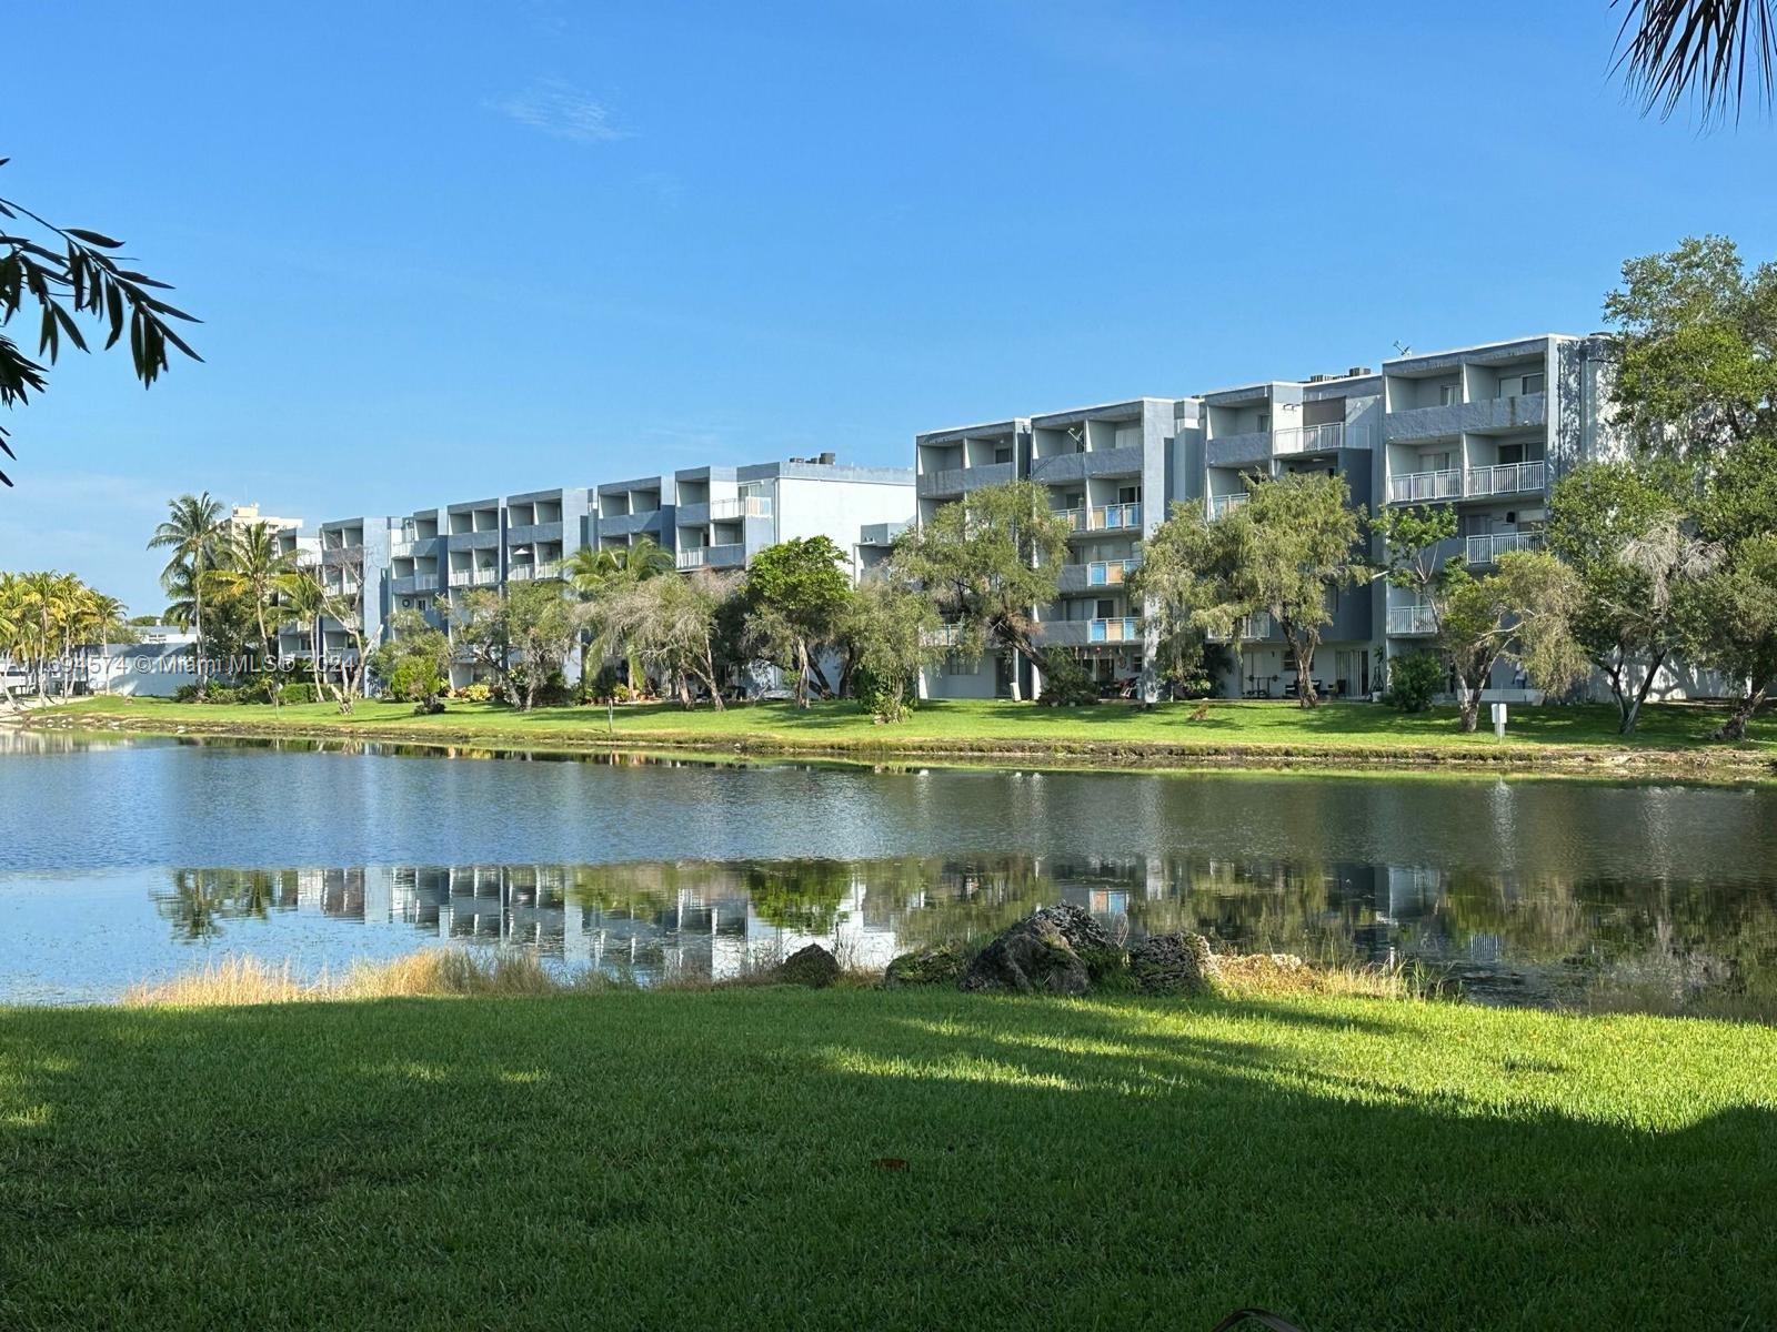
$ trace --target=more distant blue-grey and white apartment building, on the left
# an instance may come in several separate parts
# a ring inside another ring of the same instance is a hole
[[[823,453],[469,499],[407,517],[341,519],[281,531],[279,540],[299,561],[318,565],[329,588],[363,581],[364,641],[375,645],[398,611],[419,611],[448,629],[451,597],[560,579],[578,551],[627,549],[643,536],[689,572],[741,570],[768,545],[826,535],[857,577],[912,517],[910,471],[853,467]],[[325,652],[347,650],[341,625],[329,620],[320,629]],[[279,652],[306,655],[315,641],[315,627],[286,625]],[[453,668],[457,684],[473,675],[469,661]]]

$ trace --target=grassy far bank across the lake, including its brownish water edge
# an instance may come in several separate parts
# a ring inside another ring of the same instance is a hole
[[[32,714],[32,726],[130,728],[160,733],[309,735],[483,744],[512,748],[698,748],[746,753],[860,757],[1056,758],[1121,764],[1249,762],[1278,765],[1475,765],[1555,771],[1633,769],[1654,773],[1768,771],[1777,757],[1777,721],[1761,718],[1749,742],[1704,741],[1720,712],[1661,705],[1640,733],[1624,739],[1608,707],[1514,707],[1509,739],[1464,735],[1450,709],[1406,716],[1370,703],[1303,710],[1283,702],[1167,703],[1040,709],[1029,703],[933,702],[894,726],[880,726],[853,703],[759,703],[725,712],[670,705],[538,709],[451,703],[439,716],[414,716],[402,703],[359,703],[341,718],[329,703],[286,707],[203,705],[163,700],[89,698]]]

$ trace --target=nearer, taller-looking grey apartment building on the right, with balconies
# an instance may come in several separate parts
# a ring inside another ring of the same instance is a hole
[[[938,430],[915,439],[919,520],[968,490],[1029,478],[1045,485],[1073,533],[1052,606],[1034,607],[1045,648],[1068,650],[1107,687],[1144,693],[1151,648],[1143,607],[1123,579],[1141,542],[1173,504],[1219,519],[1247,497],[1253,476],[1327,471],[1352,503],[1454,504],[1459,536],[1439,558],[1484,568],[1505,551],[1534,549],[1548,492],[1582,460],[1610,448],[1605,346],[1598,337],[1537,336],[1452,352],[1400,355],[1381,373],[1267,380],[1182,398]],[[1377,559],[1381,551],[1372,552]],[[1430,609],[1370,581],[1340,590],[1315,659],[1319,689],[1374,694],[1386,661],[1430,634]],[[1242,627],[1237,666],[1223,693],[1287,696],[1295,664],[1269,616]],[[947,698],[997,696],[1022,670],[1022,691],[1041,680],[1015,662],[947,661],[926,680]],[[1502,666],[1494,698],[1526,682]]]

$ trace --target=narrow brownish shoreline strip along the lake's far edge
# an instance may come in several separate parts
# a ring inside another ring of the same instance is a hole
[[[128,705],[126,705],[128,707]],[[521,714],[510,714],[514,718]],[[131,733],[160,737],[215,737],[254,741],[370,741],[428,748],[478,748],[510,753],[629,753],[661,751],[711,758],[830,758],[849,762],[951,762],[986,767],[1056,764],[1063,767],[1116,767],[1125,771],[1164,769],[1251,769],[1292,773],[1491,773],[1500,776],[1594,776],[1677,780],[1708,783],[1773,781],[1777,760],[1756,748],[1630,748],[1599,744],[1548,744],[1507,741],[1498,748],[1429,744],[1279,744],[1279,742],[1183,742],[1144,739],[1013,741],[983,735],[968,741],[944,737],[785,737],[769,732],[697,735],[682,730],[626,730],[606,733],[597,725],[567,728],[537,723],[530,735],[514,726],[476,726],[426,721],[423,728],[403,721],[350,719],[242,721],[130,716],[116,710],[60,709],[16,716],[27,730]]]

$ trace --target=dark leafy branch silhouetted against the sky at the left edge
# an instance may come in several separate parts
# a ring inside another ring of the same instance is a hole
[[[0,158],[0,167],[5,163],[7,158]],[[144,387],[167,369],[169,346],[201,361],[171,323],[192,321],[192,316],[155,295],[169,289],[165,282],[124,268],[116,254],[121,245],[98,231],[59,227],[12,199],[0,199],[0,327],[9,325],[27,304],[34,305],[39,314],[37,355],[53,366],[62,337],[87,350],[80,318],[105,329],[107,350],[116,346],[128,325],[130,361]],[[0,334],[0,407],[23,407],[32,392],[43,392],[46,385],[44,364]],[[18,456],[7,444],[4,426],[0,453]],[[12,480],[0,472],[0,483],[11,487]]]

